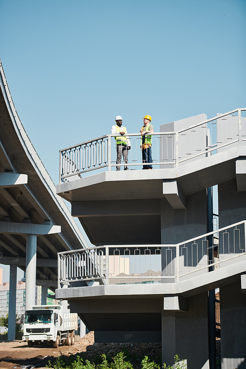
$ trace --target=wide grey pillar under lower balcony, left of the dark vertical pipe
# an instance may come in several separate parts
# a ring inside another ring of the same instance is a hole
[[[187,311],[162,311],[162,363],[172,366],[177,354],[188,369],[209,369],[208,294],[187,300]]]

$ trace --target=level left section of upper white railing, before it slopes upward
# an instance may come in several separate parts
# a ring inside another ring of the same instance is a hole
[[[119,136],[119,134],[118,134]],[[131,149],[127,150],[128,169],[142,169],[142,152],[140,145],[142,136],[139,133],[128,134]],[[108,167],[108,170],[113,170],[116,166],[125,166],[116,163],[116,134],[109,134],[95,138],[91,141],[83,142],[82,144],[71,146],[60,150],[60,180],[64,182],[81,178],[83,173],[92,170]],[[164,142],[171,138],[175,142],[175,132],[155,132],[152,133],[152,158],[154,167],[159,167],[160,164],[175,164],[176,153],[173,150],[172,154],[168,154],[165,149]],[[175,146],[174,146],[175,147]],[[141,166],[141,167],[140,167]]]

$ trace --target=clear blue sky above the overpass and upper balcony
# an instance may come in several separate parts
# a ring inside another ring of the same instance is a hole
[[[0,0],[0,58],[55,184],[59,150],[142,117],[246,107],[245,0]]]

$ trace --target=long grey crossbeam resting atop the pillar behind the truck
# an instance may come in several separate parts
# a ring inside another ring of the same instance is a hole
[[[61,231],[60,225],[0,222],[0,233],[50,235],[52,233],[60,233]]]

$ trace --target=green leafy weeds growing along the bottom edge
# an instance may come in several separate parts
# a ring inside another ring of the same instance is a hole
[[[55,362],[51,364],[48,362],[46,368],[54,368],[54,369],[133,369],[132,364],[129,361],[125,361],[124,352],[119,352],[112,359],[108,358],[105,354],[102,354],[100,357],[100,363],[95,364],[94,361],[92,363],[89,360],[84,360],[81,356],[71,355],[69,357],[65,357],[63,355],[56,358]],[[98,361],[98,358],[95,360]],[[174,357],[174,363],[176,369],[186,369],[187,365],[184,363],[184,360],[180,361],[178,355]],[[145,356],[141,361],[142,369],[160,369],[160,366],[156,364],[154,361],[150,361],[148,356]],[[163,364],[163,369],[173,369],[173,367],[167,366],[165,363]]]

